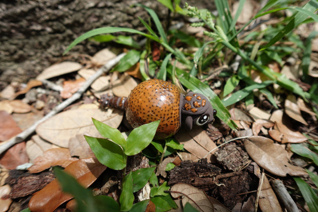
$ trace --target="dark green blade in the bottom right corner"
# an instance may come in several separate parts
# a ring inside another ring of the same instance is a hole
[[[310,211],[318,211],[318,197],[314,190],[301,178],[294,178]]]

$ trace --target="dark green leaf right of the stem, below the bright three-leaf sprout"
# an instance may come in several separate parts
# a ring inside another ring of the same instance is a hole
[[[156,167],[140,168],[132,172],[132,192],[136,192],[146,185],[154,169],[156,169]]]

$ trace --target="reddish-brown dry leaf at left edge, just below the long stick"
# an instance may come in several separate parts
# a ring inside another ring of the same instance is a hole
[[[26,152],[26,142],[15,144],[8,149],[0,159],[0,164],[7,169],[15,169],[18,165],[28,162],[29,158]]]

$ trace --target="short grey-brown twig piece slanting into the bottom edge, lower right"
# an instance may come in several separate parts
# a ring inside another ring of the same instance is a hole
[[[277,197],[283,202],[287,211],[288,212],[299,212],[299,209],[298,209],[296,203],[293,201],[293,199],[289,195],[283,182],[280,180],[272,180],[271,184],[273,186],[273,190],[275,191]]]

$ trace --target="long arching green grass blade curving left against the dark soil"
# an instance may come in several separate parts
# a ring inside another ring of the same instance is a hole
[[[135,30],[135,29],[130,29],[130,28],[123,28],[123,27],[101,27],[97,29],[90,30],[81,36],[77,37],[64,51],[63,54],[66,54],[70,49],[72,49],[75,45],[78,43],[81,43],[82,41],[86,40],[89,37],[99,35],[99,34],[108,34],[108,33],[115,33],[115,32],[130,32],[130,33],[135,33],[135,34],[141,34],[145,37],[148,37],[156,42],[159,42],[158,37]]]

